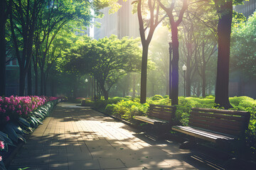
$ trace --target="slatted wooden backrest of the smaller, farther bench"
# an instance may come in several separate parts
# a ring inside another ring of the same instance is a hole
[[[174,118],[175,111],[175,106],[162,106],[151,104],[149,106],[148,115],[154,118],[168,120],[171,122],[171,119]]]

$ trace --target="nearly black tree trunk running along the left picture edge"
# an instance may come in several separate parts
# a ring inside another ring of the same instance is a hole
[[[0,2],[0,96],[6,96],[6,1]]]

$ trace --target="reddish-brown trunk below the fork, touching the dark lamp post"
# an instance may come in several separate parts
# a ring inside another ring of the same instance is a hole
[[[171,23],[171,38],[173,45],[171,105],[178,105],[178,28],[176,23]]]

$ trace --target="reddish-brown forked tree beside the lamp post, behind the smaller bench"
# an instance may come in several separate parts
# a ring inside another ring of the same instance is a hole
[[[178,105],[178,26],[181,23],[183,19],[183,14],[185,13],[186,9],[188,8],[187,0],[183,0],[182,7],[178,13],[178,18],[175,21],[175,15],[174,15],[174,7],[176,5],[176,0],[171,1],[171,5],[168,3],[166,7],[164,4],[161,3],[161,0],[159,1],[159,5],[162,9],[166,12],[169,23],[171,25],[171,40],[172,40],[172,50],[173,50],[173,60],[171,62],[171,74],[172,74],[172,80],[171,80],[171,105]]]

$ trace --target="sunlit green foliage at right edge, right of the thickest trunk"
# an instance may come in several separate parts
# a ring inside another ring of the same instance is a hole
[[[234,71],[239,71],[243,79],[256,75],[255,24],[256,13],[246,22],[240,21],[233,27],[230,64]]]

